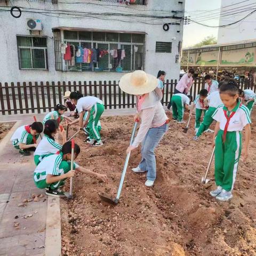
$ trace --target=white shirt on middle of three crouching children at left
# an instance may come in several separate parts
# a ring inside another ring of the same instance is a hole
[[[43,139],[39,142],[35,152],[35,155],[48,155],[48,154],[56,154],[62,148],[57,142],[53,139],[49,138],[47,135],[44,135]]]

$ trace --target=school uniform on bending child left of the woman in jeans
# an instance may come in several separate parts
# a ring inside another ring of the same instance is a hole
[[[103,102],[96,97],[86,96],[80,98],[77,101],[76,109],[78,111],[78,114],[84,110],[90,110],[90,118],[87,125],[90,131],[90,140],[101,141],[100,132],[98,130],[98,122],[104,111]]]

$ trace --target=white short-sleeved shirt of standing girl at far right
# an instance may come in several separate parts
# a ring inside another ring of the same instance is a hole
[[[223,111],[224,105],[220,105],[212,115],[212,118],[217,122],[220,122],[220,129],[224,131],[227,123],[227,118]],[[232,111],[227,111],[227,115],[231,114]],[[251,123],[250,111],[247,107],[242,105],[236,110],[236,113],[231,117],[228,125],[228,132],[242,131],[246,124]]]

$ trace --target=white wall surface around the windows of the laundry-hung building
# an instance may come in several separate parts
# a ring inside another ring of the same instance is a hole
[[[64,2],[64,1],[60,1]],[[68,1],[66,1],[68,2]],[[72,1],[75,2],[75,1]],[[185,1],[179,4],[178,0],[149,0],[148,5],[130,5],[115,4],[108,2],[100,2],[95,0],[80,0],[84,4],[52,4],[51,2],[39,3],[26,0],[17,0],[15,4],[22,7],[39,8],[41,10],[78,10],[86,12],[114,12],[114,13],[147,13],[147,14],[161,14],[172,15],[171,10],[184,10]],[[97,4],[97,5],[95,5]],[[111,6],[109,5],[111,4]],[[113,6],[115,5],[115,6]],[[153,11],[154,10],[154,11]],[[163,12],[157,12],[165,11]],[[183,13],[178,13],[181,17]],[[17,50],[17,35],[30,35],[27,30],[26,18],[41,19],[43,23],[43,31],[41,35],[47,36],[47,51],[49,70],[20,70],[18,63]],[[118,17],[116,20],[101,20],[94,18],[57,18],[49,17],[39,13],[22,12],[19,19],[11,16],[10,12],[0,13],[0,82],[34,82],[34,81],[113,81],[122,76],[122,73],[108,73],[108,72],[71,72],[71,71],[55,71],[54,60],[54,44],[53,44],[53,27],[78,27],[78,28],[92,28],[92,29],[106,29],[106,30],[125,30],[125,31],[143,31],[146,32],[146,55],[145,55],[145,71],[156,75],[159,69],[165,70],[167,78],[178,78],[180,64],[175,63],[175,55],[178,52],[178,43],[182,38],[183,25],[170,26],[169,31],[163,30],[165,22],[175,22],[179,20],[165,19],[156,20],[155,23],[161,25],[146,25],[138,21],[121,22]],[[122,18],[127,19],[127,18]],[[131,18],[128,18],[129,21]],[[127,20],[128,20],[127,19]],[[142,19],[142,18],[139,18]],[[151,21],[152,22],[152,21]],[[177,33],[180,30],[180,33]],[[175,39],[173,39],[175,37]],[[172,42],[172,53],[156,53],[156,41]]]

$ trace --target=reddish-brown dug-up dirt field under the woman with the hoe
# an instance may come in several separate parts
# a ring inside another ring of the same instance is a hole
[[[254,109],[253,121],[255,114]],[[105,146],[87,146],[82,142],[84,135],[79,135],[76,142],[82,153],[77,162],[106,173],[109,182],[83,174],[74,178],[75,199],[61,200],[62,255],[256,255],[255,124],[249,158],[239,163],[230,202],[216,202],[209,195],[215,188],[213,164],[211,181],[201,184],[211,155],[212,134],[194,142],[193,128],[185,134],[185,125],[170,122],[156,150],[154,187],[144,185],[145,173],[132,173],[131,167],[140,162],[140,151],[134,150],[121,200],[113,206],[102,203],[98,192],[116,195],[133,119],[105,117],[101,123]]]

